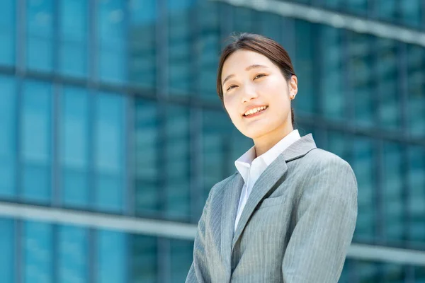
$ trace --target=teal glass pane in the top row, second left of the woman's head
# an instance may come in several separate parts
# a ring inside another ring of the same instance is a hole
[[[169,90],[171,94],[188,95],[193,72],[191,71],[192,0],[172,1],[169,6]]]

